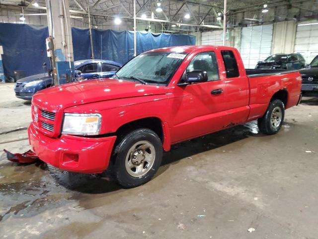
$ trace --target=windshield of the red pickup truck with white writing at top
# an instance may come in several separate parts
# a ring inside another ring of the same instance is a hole
[[[185,56],[185,53],[146,52],[124,65],[116,72],[113,79],[167,85]]]

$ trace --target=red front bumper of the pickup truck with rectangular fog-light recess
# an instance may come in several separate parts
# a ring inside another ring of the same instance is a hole
[[[101,173],[107,169],[116,136],[88,138],[62,134],[51,138],[31,123],[29,142],[39,158],[57,168],[80,173]]]

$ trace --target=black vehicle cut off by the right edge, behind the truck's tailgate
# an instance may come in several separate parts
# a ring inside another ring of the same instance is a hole
[[[318,93],[318,56],[308,65],[306,69],[299,71],[303,78],[303,93]]]

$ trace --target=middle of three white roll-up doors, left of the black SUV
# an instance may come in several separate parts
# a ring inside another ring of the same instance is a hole
[[[240,54],[245,68],[254,68],[270,56],[272,37],[273,24],[242,27]]]

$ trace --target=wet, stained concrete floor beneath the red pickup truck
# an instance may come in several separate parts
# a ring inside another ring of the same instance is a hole
[[[318,98],[306,98],[288,110],[276,135],[251,122],[174,145],[157,176],[129,190],[104,175],[21,166],[0,153],[0,235],[318,238],[317,106]],[[30,103],[14,97],[13,84],[0,84],[0,117],[1,148],[28,150]],[[14,139],[21,140],[3,143]]]

